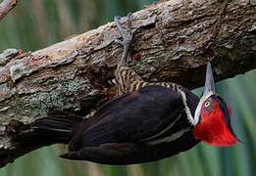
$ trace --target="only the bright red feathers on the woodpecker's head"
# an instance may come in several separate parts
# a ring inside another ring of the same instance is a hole
[[[199,124],[193,128],[195,139],[216,146],[230,146],[238,140],[235,138],[232,130],[227,126],[223,111],[220,109],[219,103],[212,99],[214,106],[211,111],[201,110],[201,120]],[[230,107],[227,105],[230,113]],[[231,116],[231,114],[230,114]],[[230,122],[230,121],[229,121]]]

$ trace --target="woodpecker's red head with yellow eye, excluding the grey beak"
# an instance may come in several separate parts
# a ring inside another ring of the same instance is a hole
[[[238,141],[231,128],[230,107],[220,96],[212,95],[203,102],[193,135],[195,139],[216,146],[230,146]]]

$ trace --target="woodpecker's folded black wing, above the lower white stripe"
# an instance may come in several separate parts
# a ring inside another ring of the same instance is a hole
[[[97,110],[92,120],[80,133],[82,146],[157,141],[190,130],[179,93],[157,85],[115,98]]]

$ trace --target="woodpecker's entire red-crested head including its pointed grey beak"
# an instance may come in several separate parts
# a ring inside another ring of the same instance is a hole
[[[231,128],[230,106],[216,94],[212,67],[207,64],[204,93],[192,123],[195,139],[216,146],[230,146],[238,140]]]

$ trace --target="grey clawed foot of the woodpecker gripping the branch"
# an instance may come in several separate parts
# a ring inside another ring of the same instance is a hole
[[[120,34],[122,35],[123,40],[119,40],[119,39],[115,39],[114,41],[117,44],[120,44],[124,47],[124,52],[122,55],[122,59],[121,61],[118,62],[118,67],[122,66],[123,64],[126,64],[128,61],[130,61],[130,44],[131,44],[131,40],[132,40],[132,32],[131,32],[131,13],[128,13],[127,16],[127,29],[125,31],[125,29],[122,27],[121,23],[119,22],[119,20],[121,19],[120,17],[116,16],[114,18],[114,21],[117,24],[118,27],[118,31],[120,32]]]

